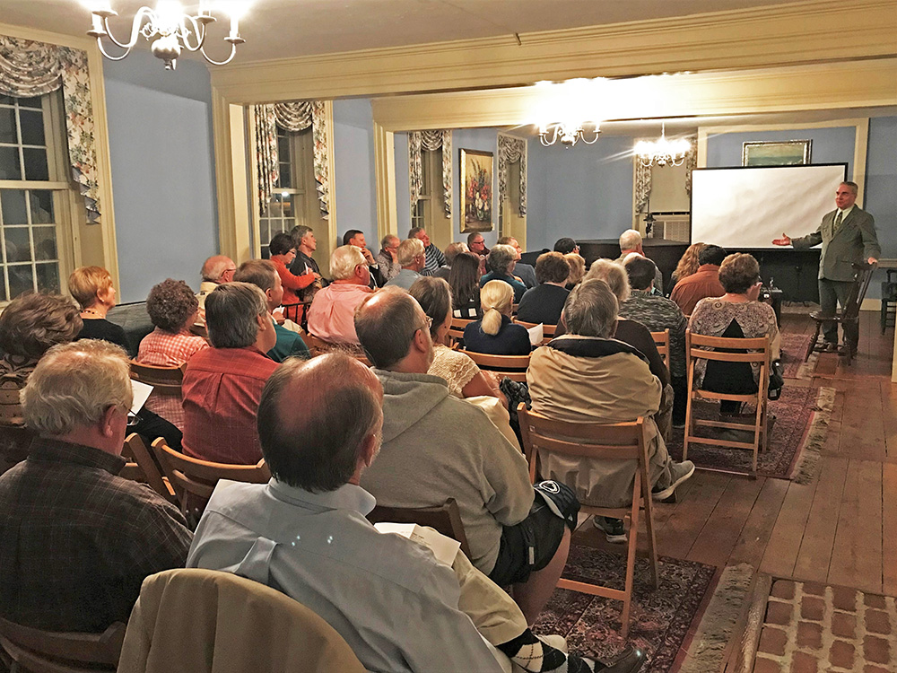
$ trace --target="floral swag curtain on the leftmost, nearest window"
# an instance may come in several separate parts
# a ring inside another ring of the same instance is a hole
[[[87,221],[99,223],[100,189],[87,52],[0,35],[0,93],[31,98],[60,88],[72,177],[84,197]]]

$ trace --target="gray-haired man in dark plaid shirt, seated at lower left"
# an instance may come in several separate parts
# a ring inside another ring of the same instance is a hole
[[[183,566],[183,515],[118,476],[132,403],[125,353],[57,345],[22,391],[39,433],[0,476],[0,615],[48,631],[101,633],[126,622],[148,575]]]

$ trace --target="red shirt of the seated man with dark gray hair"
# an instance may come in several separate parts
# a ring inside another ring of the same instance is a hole
[[[184,453],[216,463],[262,459],[256,415],[262,388],[277,363],[248,348],[206,348],[184,374]]]

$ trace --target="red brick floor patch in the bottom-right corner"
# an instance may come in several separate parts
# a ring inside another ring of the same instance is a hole
[[[776,580],[753,673],[897,671],[897,599]]]

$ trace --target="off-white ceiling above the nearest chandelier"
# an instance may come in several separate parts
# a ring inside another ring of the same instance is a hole
[[[233,1],[233,0],[231,0]],[[246,44],[238,62],[354,49],[507,36],[695,13],[788,4],[793,0],[254,0],[240,22]],[[147,0],[111,0],[120,17],[113,34],[126,38],[130,19]],[[198,6],[196,0],[194,4]],[[189,7],[189,0],[184,3]],[[196,6],[193,9],[196,9]],[[83,35],[90,13],[79,0],[0,0],[0,22]],[[213,27],[212,38],[226,34]],[[209,49],[211,56],[226,53]],[[218,45],[214,45],[218,47]]]

